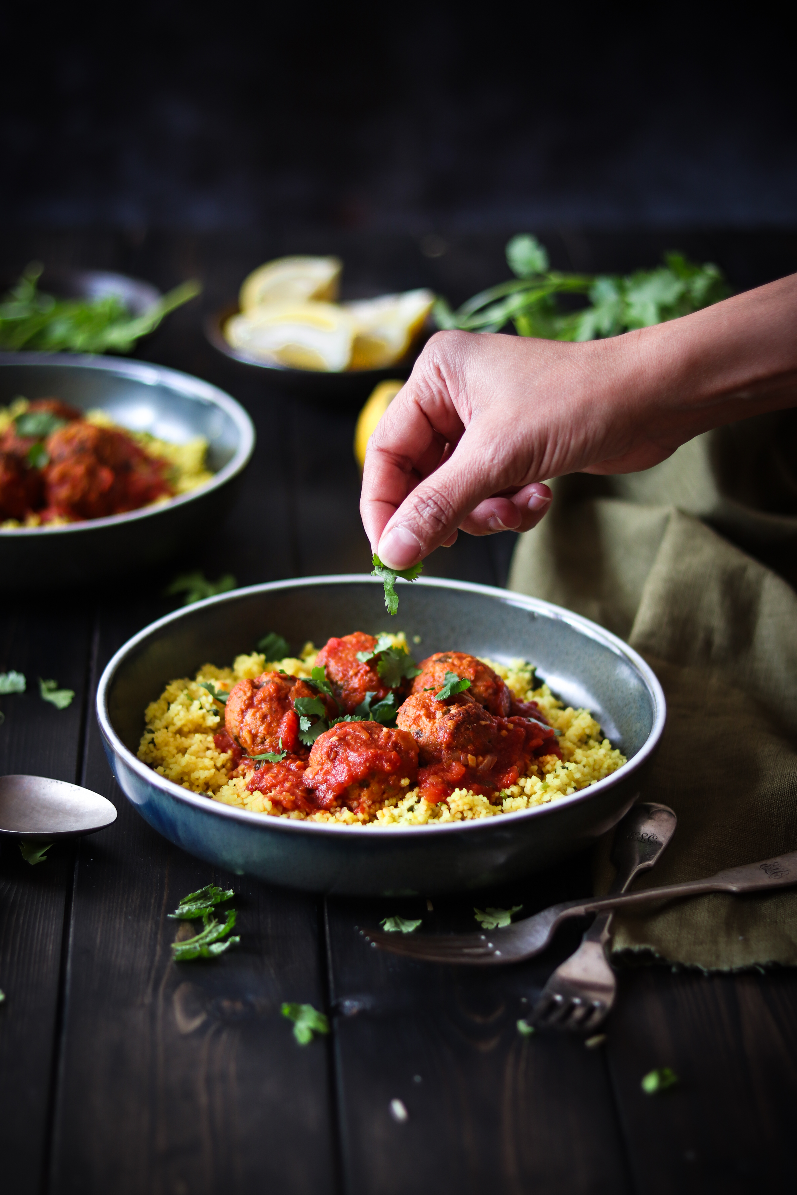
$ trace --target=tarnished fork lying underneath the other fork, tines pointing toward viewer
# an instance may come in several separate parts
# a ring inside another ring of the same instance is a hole
[[[667,805],[633,805],[614,832],[612,863],[617,868],[609,895],[624,893],[640,871],[649,871],[675,833],[678,819]],[[617,976],[606,957],[613,913],[600,913],[581,945],[553,972],[527,1017],[539,1029],[591,1032],[608,1016]]]

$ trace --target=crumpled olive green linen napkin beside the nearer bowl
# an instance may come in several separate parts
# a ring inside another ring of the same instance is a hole
[[[667,695],[643,796],[670,805],[678,831],[637,887],[797,850],[797,412],[699,436],[644,473],[553,488],[510,588],[625,638]],[[722,970],[797,964],[797,889],[618,917],[612,951]]]

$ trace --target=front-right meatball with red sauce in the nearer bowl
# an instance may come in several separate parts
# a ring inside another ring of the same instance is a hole
[[[559,755],[553,730],[526,718],[496,718],[470,691],[447,701],[431,692],[413,693],[397,723],[418,744],[418,786],[429,802],[445,801],[454,789],[495,797],[515,784],[533,759]]]

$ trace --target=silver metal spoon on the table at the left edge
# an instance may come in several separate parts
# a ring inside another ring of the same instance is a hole
[[[116,809],[97,792],[45,776],[0,776],[0,834],[43,838],[93,834],[116,821]]]

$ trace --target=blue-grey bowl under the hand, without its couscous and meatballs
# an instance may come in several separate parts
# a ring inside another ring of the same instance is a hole
[[[379,581],[307,577],[238,589],[163,618],[130,639],[103,673],[97,717],[114,774],[160,834],[209,863],[306,891],[374,895],[476,889],[517,878],[578,851],[636,799],[661,737],[664,695],[621,639],[558,606],[455,581],[399,583],[396,619]],[[355,630],[404,630],[417,658],[456,649],[522,656],[568,703],[587,706],[629,756],[618,772],[547,805],[482,821],[406,829],[269,817],[188,792],[136,759],[143,711],[165,684],[206,662],[228,664],[268,631],[294,650]]]

